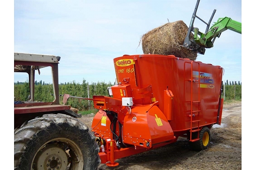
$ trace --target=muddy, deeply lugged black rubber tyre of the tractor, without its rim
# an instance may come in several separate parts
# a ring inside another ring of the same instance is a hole
[[[65,114],[45,114],[28,121],[14,133],[14,169],[29,170],[35,153],[47,141],[64,137],[75,142],[84,158],[83,170],[96,170],[101,163],[99,146],[87,125]]]

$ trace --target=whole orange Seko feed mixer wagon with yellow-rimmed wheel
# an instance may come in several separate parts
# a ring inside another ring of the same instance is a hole
[[[195,150],[210,143],[221,124],[223,68],[173,55],[124,55],[113,59],[117,85],[93,96],[92,131],[102,163],[187,137]]]

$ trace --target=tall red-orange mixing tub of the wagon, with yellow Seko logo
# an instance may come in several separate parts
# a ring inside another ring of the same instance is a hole
[[[117,81],[126,88],[113,86],[113,98],[132,97],[133,108],[157,102],[174,133],[196,128],[198,122],[200,127],[220,124],[220,66],[152,54],[117,57],[114,65]],[[165,97],[166,90],[173,96]],[[198,122],[191,121],[191,115]]]

